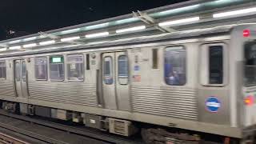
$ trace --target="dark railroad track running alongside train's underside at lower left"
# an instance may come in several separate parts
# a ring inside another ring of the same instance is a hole
[[[30,140],[28,143],[33,144],[142,144],[138,139],[132,140],[86,127],[66,126],[57,122],[10,114],[3,110],[0,110],[0,128],[20,134]]]

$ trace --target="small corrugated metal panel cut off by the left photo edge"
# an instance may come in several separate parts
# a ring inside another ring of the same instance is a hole
[[[1,81],[0,82],[0,95],[6,97],[15,97],[14,82]]]

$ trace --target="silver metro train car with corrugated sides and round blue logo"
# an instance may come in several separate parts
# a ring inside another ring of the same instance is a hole
[[[255,23],[232,24],[7,50],[2,108],[125,136],[163,126],[242,138],[256,124],[255,30]]]

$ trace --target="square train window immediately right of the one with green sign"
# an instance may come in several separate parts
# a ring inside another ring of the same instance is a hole
[[[82,54],[67,56],[67,75],[70,81],[83,81],[84,62]]]

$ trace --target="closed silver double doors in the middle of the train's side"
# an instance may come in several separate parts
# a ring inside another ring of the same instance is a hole
[[[129,66],[126,52],[102,54],[102,92],[106,109],[130,110]]]

